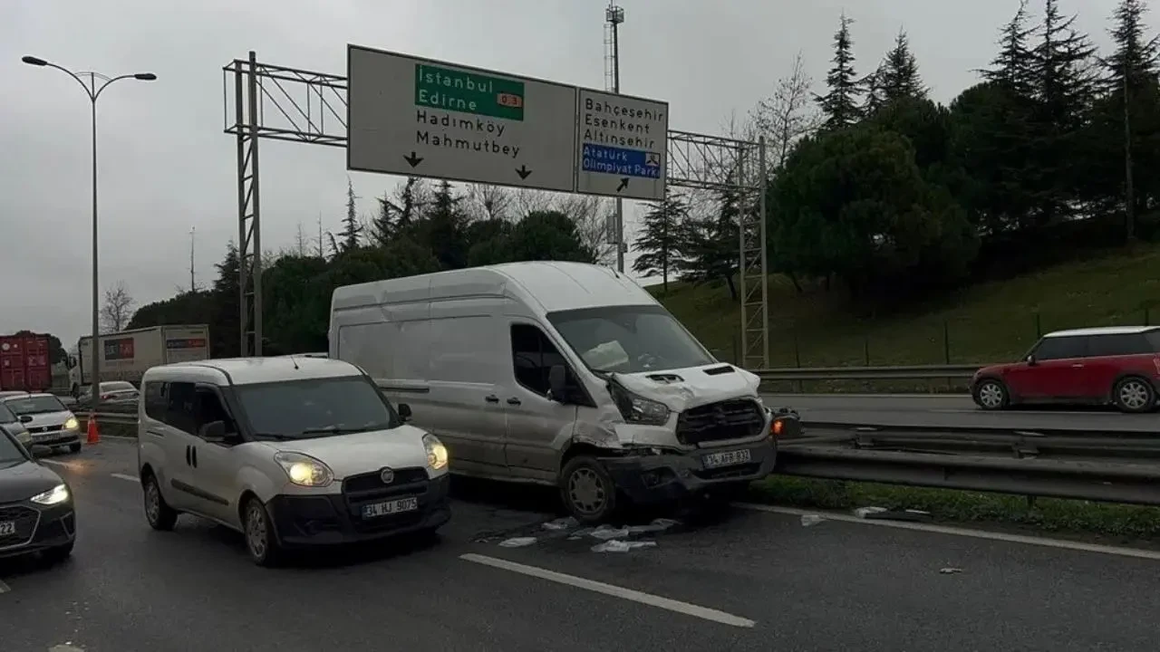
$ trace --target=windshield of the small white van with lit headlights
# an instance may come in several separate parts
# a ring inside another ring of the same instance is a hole
[[[260,437],[310,439],[403,425],[386,397],[362,376],[237,385],[235,391]]]

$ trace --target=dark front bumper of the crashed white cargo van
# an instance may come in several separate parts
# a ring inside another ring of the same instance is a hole
[[[747,461],[715,465],[713,456],[719,459],[720,454],[740,451],[748,451]],[[745,444],[698,448],[681,454],[631,455],[601,461],[618,490],[633,502],[647,505],[760,480],[774,471],[777,442],[773,437],[766,437]]]

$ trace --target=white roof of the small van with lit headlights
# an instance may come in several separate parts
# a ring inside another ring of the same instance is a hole
[[[341,360],[299,356],[226,357],[153,367],[145,371],[142,383],[184,381],[212,385],[252,385],[361,374],[357,367]]]

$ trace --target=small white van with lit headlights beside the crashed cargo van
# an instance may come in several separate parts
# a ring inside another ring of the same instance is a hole
[[[158,530],[182,513],[217,521],[260,565],[288,548],[434,533],[451,516],[448,451],[409,414],[336,360],[154,367],[138,407],[145,517]]]

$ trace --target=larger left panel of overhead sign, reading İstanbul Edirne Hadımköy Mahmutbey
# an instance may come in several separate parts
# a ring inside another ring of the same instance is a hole
[[[575,188],[575,87],[357,45],[347,78],[347,169]]]

